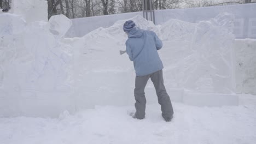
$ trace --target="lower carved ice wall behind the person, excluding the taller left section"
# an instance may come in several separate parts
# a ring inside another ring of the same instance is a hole
[[[159,53],[170,93],[173,89],[187,89],[199,92],[206,99],[216,96],[207,97],[209,93],[216,93],[230,100],[228,95],[235,89],[233,15],[223,13],[199,23],[172,19],[162,26],[155,26],[141,16],[131,20],[142,29],[155,31],[164,41]],[[74,92],[78,109],[95,104],[133,104],[135,71],[127,55],[119,55],[119,50],[125,50],[127,39],[123,32],[124,22],[117,21],[111,27],[98,28],[82,38],[63,41],[75,49]],[[148,103],[155,103],[151,82],[146,93]],[[177,95],[183,97],[184,94],[172,93],[171,97]],[[232,104],[237,104],[237,101]]]

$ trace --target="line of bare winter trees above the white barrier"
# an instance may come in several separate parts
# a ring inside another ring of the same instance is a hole
[[[10,0],[0,0],[7,7]],[[146,0],[47,0],[49,18],[65,14],[68,18],[108,15],[141,11]],[[153,1],[155,9],[207,7],[212,5],[240,4],[251,0],[147,0]],[[7,3],[6,3],[7,2]]]

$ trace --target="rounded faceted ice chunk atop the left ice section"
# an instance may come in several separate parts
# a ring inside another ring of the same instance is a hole
[[[65,15],[54,15],[49,20],[50,32],[57,37],[63,37],[72,25]]]

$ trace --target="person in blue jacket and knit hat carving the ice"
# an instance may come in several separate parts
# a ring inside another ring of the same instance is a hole
[[[162,48],[162,41],[153,31],[144,31],[136,27],[132,20],[126,21],[123,26],[127,34],[126,53],[129,55],[136,71],[135,79],[135,109],[131,113],[133,118],[145,118],[146,97],[144,89],[149,78],[154,84],[158,103],[161,105],[162,117],[166,122],[170,122],[173,117],[173,108],[169,95],[164,86],[162,76],[162,61],[158,55],[158,50]]]

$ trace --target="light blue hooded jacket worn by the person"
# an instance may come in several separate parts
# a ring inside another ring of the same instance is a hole
[[[133,27],[125,44],[136,76],[145,76],[164,68],[157,51],[162,48],[162,41],[155,32]]]

